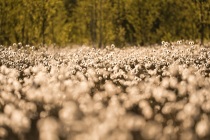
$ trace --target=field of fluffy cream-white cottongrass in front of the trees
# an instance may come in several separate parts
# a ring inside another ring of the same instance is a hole
[[[210,139],[210,48],[1,45],[0,139]]]

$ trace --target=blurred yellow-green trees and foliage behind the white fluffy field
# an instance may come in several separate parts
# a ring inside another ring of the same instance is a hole
[[[0,0],[0,44],[147,45],[210,39],[208,0]]]

